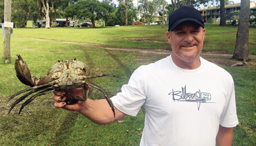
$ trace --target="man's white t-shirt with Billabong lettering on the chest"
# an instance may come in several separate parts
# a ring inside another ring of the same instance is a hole
[[[238,124],[233,78],[200,58],[201,66],[184,70],[167,56],[134,71],[114,106],[136,116],[146,109],[140,145],[216,145],[219,124]]]

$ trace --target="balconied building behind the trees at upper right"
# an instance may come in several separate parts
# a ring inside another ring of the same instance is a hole
[[[256,11],[256,4],[254,1],[250,2],[250,9],[251,11]],[[234,15],[236,13],[230,14],[231,11],[240,11],[240,3],[237,4],[228,4],[225,5],[225,14],[226,14],[226,20],[232,20],[234,19]],[[202,19],[205,20],[205,22],[208,22],[208,20],[215,18],[217,19],[218,17],[220,17],[220,6],[214,6],[214,7],[210,7],[210,8],[205,8],[205,9],[200,9],[198,10],[201,15],[202,15]],[[237,13],[239,15],[239,13]]]

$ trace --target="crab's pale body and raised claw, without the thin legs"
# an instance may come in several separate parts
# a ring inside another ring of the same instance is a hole
[[[70,59],[67,61],[58,61],[54,64],[46,76],[37,79],[35,76],[31,78],[30,70],[22,57],[17,54],[15,62],[16,76],[25,85],[34,87],[35,85],[48,84],[53,82],[54,87],[60,90],[69,90],[79,88],[84,84],[83,77],[90,75],[90,70],[84,62]]]

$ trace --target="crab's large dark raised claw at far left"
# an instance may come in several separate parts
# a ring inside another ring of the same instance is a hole
[[[35,83],[37,81],[37,78],[35,76],[31,78],[30,70],[28,69],[26,62],[23,61],[19,54],[17,54],[16,56],[14,66],[16,70],[16,76],[20,82],[30,87],[34,87],[34,85],[36,85]]]

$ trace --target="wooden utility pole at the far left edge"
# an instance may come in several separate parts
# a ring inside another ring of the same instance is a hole
[[[4,1],[4,23],[11,22],[11,0]],[[11,28],[4,26],[4,59],[5,63],[11,62]]]

